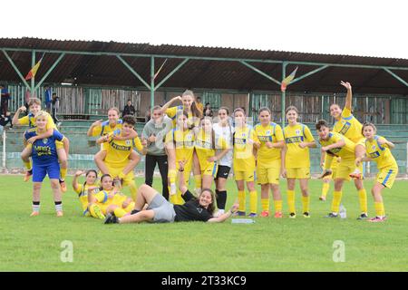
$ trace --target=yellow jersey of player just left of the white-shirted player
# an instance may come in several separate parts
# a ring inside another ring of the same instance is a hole
[[[218,149],[225,150],[228,148],[228,145],[227,141],[222,137],[218,138],[216,144],[215,134],[206,133],[201,129],[196,136],[195,148],[199,164],[203,165],[209,163],[208,159],[215,156]]]

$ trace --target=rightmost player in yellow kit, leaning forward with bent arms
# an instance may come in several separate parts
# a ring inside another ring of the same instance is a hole
[[[398,174],[398,165],[390,149],[395,145],[384,137],[375,135],[377,132],[374,124],[364,123],[362,129],[365,137],[365,156],[357,158],[355,165],[359,166],[361,161],[371,161],[377,163],[378,174],[371,193],[374,198],[375,218],[370,218],[371,222],[382,222],[385,220],[384,202],[381,192],[384,188],[391,189],[393,181]]]

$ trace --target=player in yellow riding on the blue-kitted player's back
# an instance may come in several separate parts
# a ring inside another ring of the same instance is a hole
[[[28,102],[28,110],[30,111],[27,116],[23,118],[18,118],[21,112],[24,112],[26,110],[25,106],[18,108],[18,110],[15,112],[15,116],[13,117],[13,125],[15,126],[28,126],[29,128],[34,128],[35,125],[35,114],[38,111],[41,111],[41,100],[37,98],[30,99]],[[53,135],[53,131],[57,130],[57,127],[55,126],[55,123],[53,122],[53,117],[47,112],[44,111],[44,116],[46,117],[47,123],[46,123],[46,131],[44,133],[34,136],[30,138],[29,140],[24,139],[24,150],[21,153],[21,158],[23,160],[24,166],[27,169],[25,176],[24,176],[24,181],[28,181],[30,177],[33,175],[33,170],[32,170],[32,164],[30,160],[31,156],[31,148],[27,148],[27,143],[28,144],[33,144],[35,140],[38,139],[45,139],[49,138]],[[66,191],[66,185],[65,185],[65,176],[66,176],[66,170],[68,168],[68,152],[69,152],[69,140],[67,140],[66,143],[62,143],[60,141],[56,141],[56,150],[57,150],[57,155],[58,155],[58,160],[60,162],[60,184],[61,184],[61,189],[63,192]]]

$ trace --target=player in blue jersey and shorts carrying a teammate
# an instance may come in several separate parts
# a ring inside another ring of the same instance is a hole
[[[25,131],[24,137],[29,140],[32,137],[44,134],[46,131],[47,115],[45,111],[38,111],[35,115],[36,128]],[[59,131],[54,130],[53,135],[46,139],[34,140],[29,144],[33,156],[33,213],[32,217],[40,214],[40,193],[44,177],[48,174],[53,189],[53,201],[57,217],[63,216],[62,192],[59,184],[60,164],[56,150],[56,141],[62,141],[65,145],[68,140]]]

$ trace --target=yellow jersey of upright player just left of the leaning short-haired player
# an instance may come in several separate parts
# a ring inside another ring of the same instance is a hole
[[[299,147],[301,142],[315,141],[310,129],[301,123],[297,123],[295,126],[287,125],[284,128],[284,138],[287,145],[285,156],[285,166],[287,169],[310,168],[309,148],[302,149]]]

